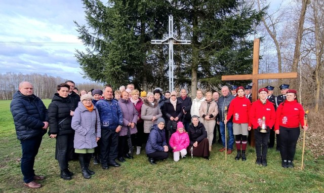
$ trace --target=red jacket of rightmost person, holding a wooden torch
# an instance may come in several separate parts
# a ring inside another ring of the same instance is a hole
[[[304,114],[304,108],[297,100],[280,103],[276,111],[274,131],[278,130],[279,126],[296,128],[299,127],[299,123],[304,126]]]

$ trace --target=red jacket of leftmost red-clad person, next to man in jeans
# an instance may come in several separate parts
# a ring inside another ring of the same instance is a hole
[[[229,104],[227,121],[233,116],[233,123],[249,123],[251,102],[245,97],[236,96]]]

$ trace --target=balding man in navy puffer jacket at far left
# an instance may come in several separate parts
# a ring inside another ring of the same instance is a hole
[[[10,103],[10,111],[22,149],[20,168],[24,185],[39,188],[42,185],[35,180],[43,180],[45,177],[35,175],[33,167],[43,135],[49,126],[47,109],[43,101],[33,94],[31,83],[21,82],[18,89]]]

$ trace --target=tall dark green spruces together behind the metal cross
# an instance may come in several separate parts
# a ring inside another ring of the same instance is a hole
[[[178,38],[191,46],[175,46],[176,85],[215,89],[221,75],[252,72],[253,40],[247,37],[261,20],[242,0],[84,0],[87,26],[77,25],[86,53],[77,61],[94,81],[118,87],[133,82],[137,88],[167,88],[167,47],[150,40],[167,34],[173,14]]]

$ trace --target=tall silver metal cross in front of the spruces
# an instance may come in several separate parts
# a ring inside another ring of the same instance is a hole
[[[169,89],[174,89],[174,61],[173,61],[173,45],[190,44],[190,40],[177,40],[173,36],[173,16],[169,15],[169,36],[166,40],[151,40],[151,44],[169,44]]]

